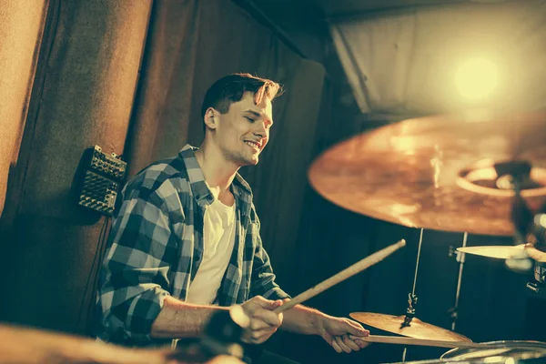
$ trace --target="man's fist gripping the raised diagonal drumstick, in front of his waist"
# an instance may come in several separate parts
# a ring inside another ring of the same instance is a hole
[[[261,296],[248,299],[241,307],[250,319],[243,333],[243,341],[248,344],[261,344],[277,331],[282,323],[282,313],[273,309],[282,305],[282,300],[272,301]]]

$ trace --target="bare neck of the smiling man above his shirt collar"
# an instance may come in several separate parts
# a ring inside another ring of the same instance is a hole
[[[228,162],[217,147],[206,141],[196,151],[196,158],[213,195],[221,197],[228,192],[239,167]]]

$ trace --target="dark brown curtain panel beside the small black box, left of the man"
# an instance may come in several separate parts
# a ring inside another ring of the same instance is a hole
[[[77,207],[71,188],[87,147],[123,152],[150,7],[49,4],[1,221],[2,320],[86,330],[104,218]]]

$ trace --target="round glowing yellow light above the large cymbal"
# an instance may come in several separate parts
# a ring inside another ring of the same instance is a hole
[[[488,96],[497,82],[497,66],[482,58],[470,59],[455,74],[455,85],[460,95],[470,100]]]

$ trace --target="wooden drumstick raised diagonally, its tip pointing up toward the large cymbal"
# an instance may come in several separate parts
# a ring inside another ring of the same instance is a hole
[[[402,248],[405,246],[406,246],[406,240],[401,239],[399,240],[398,243],[393,244],[390,247],[381,249],[378,252],[373,253],[369,257],[363,258],[362,260],[353,264],[349,268],[345,268],[344,270],[341,270],[336,275],[320,282],[317,286],[308,288],[308,290],[306,290],[303,293],[300,293],[298,296],[289,300],[288,302],[285,302],[282,306],[275,308],[273,312],[279,314],[281,312],[286,311],[289,308],[293,308],[294,306],[298,305],[298,303],[308,300],[309,298],[315,297],[319,293],[327,290],[328,288],[337,285],[339,282],[354,276],[355,274],[361,272],[362,270],[366,268],[373,266],[376,263],[379,263],[381,260],[389,257],[390,254],[394,253],[399,248]]]

